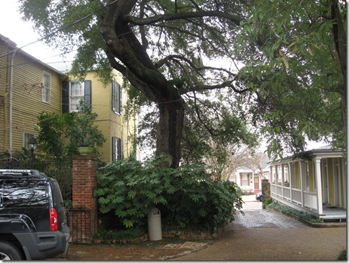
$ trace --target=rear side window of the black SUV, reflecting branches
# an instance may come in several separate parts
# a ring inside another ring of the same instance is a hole
[[[41,207],[48,205],[46,180],[1,180],[3,189],[0,206],[11,207]]]

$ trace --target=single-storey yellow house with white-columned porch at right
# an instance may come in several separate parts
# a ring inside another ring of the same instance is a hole
[[[270,163],[270,196],[279,203],[318,215],[346,220],[347,170],[343,151],[331,146]]]

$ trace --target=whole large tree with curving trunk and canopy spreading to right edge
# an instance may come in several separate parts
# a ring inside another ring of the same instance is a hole
[[[110,76],[112,67],[154,102],[156,153],[175,168],[185,124],[200,123],[224,142],[224,134],[246,140],[242,132],[251,121],[274,151],[282,142],[302,150],[305,135],[343,134],[343,6],[335,0],[23,0],[20,11],[47,43],[78,47],[73,69],[81,76],[91,67]],[[220,111],[211,111],[217,102]]]

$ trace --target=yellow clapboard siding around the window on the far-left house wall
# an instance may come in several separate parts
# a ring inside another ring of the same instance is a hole
[[[1,46],[1,45],[0,45]],[[13,63],[13,100],[12,100],[12,150],[20,151],[23,147],[23,133],[34,133],[37,124],[37,116],[40,112],[56,112],[60,114],[61,109],[61,81],[58,72],[45,67],[23,53],[15,53]],[[51,102],[42,102],[41,83],[43,72],[51,74]],[[9,77],[8,77],[9,78]],[[4,85],[4,79],[1,79]],[[9,123],[10,96],[4,97],[5,109],[0,109],[1,123]],[[0,97],[1,108],[1,97]],[[3,149],[10,147],[9,126],[4,126]]]

